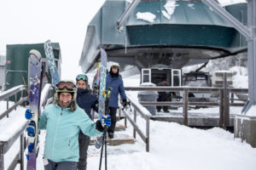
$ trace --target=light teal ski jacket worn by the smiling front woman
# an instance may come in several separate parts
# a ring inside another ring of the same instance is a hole
[[[80,130],[90,137],[102,135],[83,109],[69,109],[49,105],[40,116],[38,128],[46,129],[44,157],[51,161],[79,161]]]

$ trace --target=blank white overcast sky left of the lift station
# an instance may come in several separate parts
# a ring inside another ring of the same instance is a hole
[[[0,0],[0,54],[6,44],[60,42],[61,78],[81,73],[86,28],[104,0]]]

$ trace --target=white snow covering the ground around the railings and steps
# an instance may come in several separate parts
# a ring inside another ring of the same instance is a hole
[[[139,75],[124,79],[125,86],[139,85]],[[137,93],[129,92],[134,98]],[[0,111],[4,111],[6,103],[1,102]],[[214,112],[212,108],[208,111]],[[24,108],[14,111],[10,117],[24,120]],[[196,112],[206,110],[196,110]],[[208,112],[207,111],[207,112]],[[218,110],[216,110],[218,112]],[[236,110],[240,112],[240,110]],[[235,111],[235,112],[236,112]],[[193,111],[191,111],[193,112]],[[22,118],[21,118],[22,117]],[[6,118],[0,121],[0,130],[9,126]],[[137,124],[145,132],[145,121],[138,116]],[[18,123],[12,126],[19,126]],[[126,135],[132,136],[133,128],[130,123],[125,131]],[[3,132],[3,131],[0,131]],[[256,149],[249,144],[242,143],[241,139],[234,139],[234,134],[214,127],[209,130],[185,127],[173,122],[150,121],[149,152],[145,151],[143,140],[137,135],[135,144],[122,144],[119,146],[108,146],[108,169],[143,169],[143,170],[254,170],[256,168]],[[120,132],[117,132],[118,134]],[[124,133],[124,132],[122,132]],[[40,134],[40,150],[38,155],[38,170],[43,170],[45,131]],[[5,163],[9,164],[10,158],[15,156],[19,150],[19,141],[13,149],[4,157]],[[94,146],[89,148],[88,169],[98,169],[100,161],[100,150]],[[102,164],[104,167],[104,163]],[[16,167],[19,169],[19,166]]]

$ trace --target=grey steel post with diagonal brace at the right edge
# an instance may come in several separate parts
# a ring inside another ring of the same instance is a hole
[[[247,0],[247,26],[243,26],[218,3],[212,0],[202,0],[207,6],[212,8],[224,20],[230,22],[231,26],[247,38],[247,59],[248,59],[248,95],[247,104],[242,112],[244,114],[256,105],[256,0]]]

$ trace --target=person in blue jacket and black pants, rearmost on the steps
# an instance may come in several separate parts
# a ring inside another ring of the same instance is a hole
[[[114,128],[116,124],[116,111],[118,108],[119,94],[121,94],[123,106],[127,105],[124,82],[119,75],[119,65],[113,64],[110,67],[110,71],[107,75],[106,90],[112,88],[109,98],[109,111],[111,116],[111,126],[108,127],[108,138],[113,139]]]

